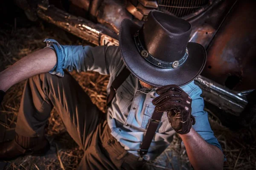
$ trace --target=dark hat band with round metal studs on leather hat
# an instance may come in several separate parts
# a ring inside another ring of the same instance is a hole
[[[156,59],[155,57],[151,56],[151,54],[149,54],[147,50],[145,50],[145,48],[143,47],[143,45],[140,41],[139,34],[140,34],[140,30],[138,30],[134,35],[134,40],[135,40],[135,45],[137,47],[137,50],[139,51],[141,57],[143,57],[145,60],[147,60],[151,64],[156,65],[157,67],[177,68],[180,65],[182,65],[186,61],[187,57],[189,56],[188,48],[186,48],[186,52],[185,52],[184,56],[181,59],[179,59],[178,61],[164,62],[160,59]]]

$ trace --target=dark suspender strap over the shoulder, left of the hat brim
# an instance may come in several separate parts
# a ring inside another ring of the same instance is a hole
[[[110,87],[110,94],[107,97],[107,105],[109,106],[116,95],[116,90],[122,85],[122,83],[127,79],[127,77],[131,74],[131,72],[125,67],[122,71],[118,74],[116,79],[111,84]]]

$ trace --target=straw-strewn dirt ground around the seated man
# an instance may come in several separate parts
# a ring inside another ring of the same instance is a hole
[[[0,29],[0,71],[27,54],[44,48],[45,43],[43,41],[45,38],[53,38],[61,44],[86,45],[86,42],[83,40],[71,36],[65,31],[47,23],[29,23],[26,26],[17,27],[15,23],[19,22],[17,21],[18,19],[16,18],[10,23],[3,24],[4,26]],[[93,103],[105,112],[108,76],[94,72],[72,72],[72,75],[91,97]],[[2,103],[0,108],[0,142],[11,140],[14,137],[23,85],[24,82],[20,82],[10,88]],[[218,119],[214,118],[214,114],[211,114],[213,111],[205,109],[209,113],[209,122],[212,130],[218,138],[227,158],[227,161],[224,163],[224,169],[256,170],[255,132],[250,128],[231,131],[229,128],[221,125]],[[52,111],[49,118],[46,134],[51,143],[51,150],[46,156],[25,156],[12,161],[2,161],[0,162],[0,169],[76,169],[83,156],[83,151],[79,149],[78,145],[68,135],[55,110]],[[179,142],[180,139],[177,139],[176,149],[179,150],[180,157],[188,161],[186,152],[180,148]]]

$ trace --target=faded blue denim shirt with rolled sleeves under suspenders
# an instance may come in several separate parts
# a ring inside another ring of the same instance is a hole
[[[68,71],[97,71],[110,75],[107,93],[116,76],[125,67],[118,46],[81,46],[60,45],[55,40],[46,39],[47,47],[55,50],[57,63],[50,71],[60,77],[63,69]],[[201,89],[194,81],[181,87],[192,98],[192,115],[196,119],[193,128],[209,144],[221,149],[209,125],[208,114],[204,111],[204,100]],[[111,106],[108,108],[107,121],[111,134],[128,152],[138,156],[138,150],[143,141],[148,122],[154,112],[152,100],[157,96],[155,89],[140,87],[139,80],[133,75],[118,88]],[[151,142],[145,160],[154,160],[172,142],[176,132],[169,124],[166,112],[163,113],[157,132]]]

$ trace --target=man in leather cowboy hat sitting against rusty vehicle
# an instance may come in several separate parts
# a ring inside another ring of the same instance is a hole
[[[30,77],[15,140],[0,146],[0,159],[45,153],[49,142],[44,126],[55,107],[70,136],[84,148],[79,169],[137,169],[159,156],[175,132],[195,169],[222,169],[224,155],[203,110],[201,89],[193,82],[204,68],[206,51],[188,42],[190,33],[191,25],[185,20],[151,11],[142,28],[130,20],[122,22],[120,48],[59,45],[45,40],[48,48],[0,73],[3,94]],[[125,75],[124,68],[131,74],[118,77]],[[113,98],[106,115],[63,69],[110,75],[107,92]],[[115,89],[112,83],[120,85]],[[153,124],[157,128],[150,131]],[[146,133],[153,134],[152,141]],[[143,143],[150,147],[144,149]]]

